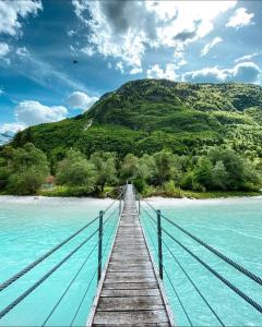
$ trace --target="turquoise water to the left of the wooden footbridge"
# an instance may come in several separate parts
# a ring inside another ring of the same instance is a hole
[[[105,209],[111,203],[111,199],[0,197],[0,282],[86,225],[98,215],[98,210]],[[117,208],[118,204],[116,203],[105,215],[105,219]],[[104,251],[109,249],[117,220],[118,215],[115,214],[107,222]],[[41,278],[69,252],[92,234],[97,227],[98,221],[3,290],[0,293],[0,310]],[[0,320],[0,326],[41,326],[69,282],[94,249],[86,265],[47,322],[47,326],[69,326],[82,299],[84,299],[73,322],[73,326],[84,326],[96,291],[97,247],[94,246],[97,239],[98,235],[94,235],[33,293],[7,314]],[[105,252],[105,258],[106,254]],[[92,279],[92,277],[94,278]],[[84,296],[88,284],[88,292]]]

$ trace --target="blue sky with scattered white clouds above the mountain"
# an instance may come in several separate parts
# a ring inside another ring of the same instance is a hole
[[[0,0],[0,133],[130,80],[262,84],[261,31],[262,1]]]

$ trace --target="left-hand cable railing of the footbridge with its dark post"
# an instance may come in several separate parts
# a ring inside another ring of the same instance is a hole
[[[60,294],[59,299],[55,302],[50,312],[46,315],[45,320],[43,322],[41,326],[45,326],[53,313],[57,311],[58,306],[61,304],[64,296],[69,293],[70,289],[72,289],[73,284],[75,283],[80,272],[84,269],[87,263],[92,262],[93,274],[86,276],[86,288],[82,296],[79,299],[79,304],[75,308],[74,314],[72,315],[72,320],[70,322],[70,326],[72,326],[78,317],[80,310],[83,305],[84,300],[88,295],[90,298],[94,296],[95,293],[91,294],[90,291],[92,290],[92,286],[94,282],[98,282],[103,272],[103,268],[107,261],[109,249],[111,246],[114,235],[116,233],[116,229],[118,226],[118,221],[122,211],[122,199],[126,195],[126,186],[123,186],[119,193],[119,196],[111,202],[111,204],[105,209],[100,210],[99,215],[84,225],[82,228],[76,230],[74,233],[69,235],[62,242],[57,244],[55,247],[49,250],[44,255],[39,256],[36,261],[24,267],[21,271],[14,274],[4,282],[0,283],[0,295],[5,292],[8,289],[12,288],[22,277],[28,274],[31,270],[36,268],[40,263],[46,262],[49,257],[51,257],[55,253],[57,253],[61,247],[66,244],[69,244],[72,241],[73,249],[70,250],[67,255],[62,259],[60,259],[55,266],[52,266],[45,275],[43,275],[39,279],[37,279],[31,287],[28,287],[25,291],[23,291],[19,296],[15,296],[4,307],[0,306],[0,325],[1,320],[7,319],[8,315],[27,296],[29,296],[34,291],[43,284],[50,276],[52,276],[62,265],[64,265],[71,257],[73,257],[81,249],[83,250],[86,245],[87,249],[84,249],[85,255],[83,255],[83,259],[79,263],[80,266],[76,269],[76,272],[72,276],[71,280],[64,280],[64,288],[62,293]],[[85,235],[85,233],[87,235]],[[78,242],[78,237],[82,237],[81,241]],[[95,241],[95,238],[97,240]],[[90,244],[90,245],[88,245]],[[76,245],[76,246],[75,246]],[[97,254],[97,255],[96,255]],[[94,264],[94,256],[97,256],[96,264]],[[82,258],[82,256],[81,256]],[[87,308],[86,315],[87,315]],[[24,313],[26,314],[26,313]],[[29,315],[29,313],[28,313]]]

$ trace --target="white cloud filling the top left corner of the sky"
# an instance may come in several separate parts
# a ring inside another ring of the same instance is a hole
[[[36,15],[41,9],[40,0],[0,0],[0,34],[17,35],[21,19]]]

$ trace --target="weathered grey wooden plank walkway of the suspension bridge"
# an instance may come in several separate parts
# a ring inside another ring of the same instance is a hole
[[[171,326],[128,185],[111,257],[88,326]]]

